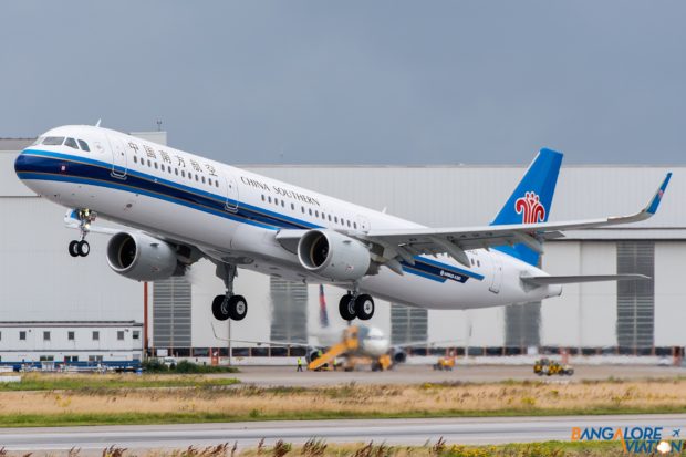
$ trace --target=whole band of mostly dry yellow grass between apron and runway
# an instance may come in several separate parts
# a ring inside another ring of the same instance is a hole
[[[686,413],[686,380],[233,386],[207,376],[29,375],[0,385],[0,426]],[[21,390],[21,391],[20,391]]]

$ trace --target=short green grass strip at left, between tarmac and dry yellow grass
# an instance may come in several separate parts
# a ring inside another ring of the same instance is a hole
[[[227,386],[236,378],[198,375],[135,375],[127,374],[22,374],[20,383],[0,383],[0,393],[18,391],[89,391],[113,388],[169,388]]]

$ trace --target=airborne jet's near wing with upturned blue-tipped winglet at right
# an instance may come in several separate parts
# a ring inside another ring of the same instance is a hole
[[[517,224],[469,228],[372,230],[365,236],[358,236],[358,238],[381,246],[383,255],[380,257],[386,260],[388,268],[401,273],[399,262],[406,261],[414,264],[414,257],[418,255],[447,253],[461,264],[469,267],[469,259],[465,253],[469,249],[489,249],[498,246],[524,243],[541,253],[543,251],[543,241],[562,237],[563,230],[617,226],[651,218],[657,211],[671,177],[672,173],[665,176],[662,185],[645,208],[628,216],[567,222]]]

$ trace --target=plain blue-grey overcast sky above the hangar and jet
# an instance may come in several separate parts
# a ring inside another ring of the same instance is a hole
[[[676,0],[3,1],[0,136],[162,118],[235,164],[683,164],[685,23]]]

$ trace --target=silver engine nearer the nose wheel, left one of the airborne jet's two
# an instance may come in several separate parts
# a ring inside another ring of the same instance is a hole
[[[178,260],[166,242],[145,233],[121,231],[107,243],[107,263],[128,279],[156,281],[173,276]]]

